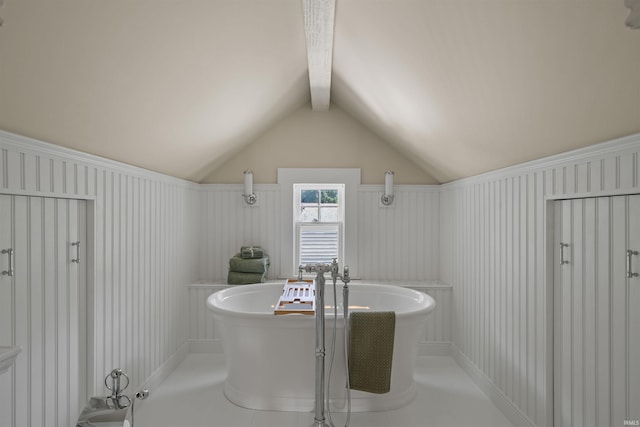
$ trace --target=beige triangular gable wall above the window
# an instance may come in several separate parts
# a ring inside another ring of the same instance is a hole
[[[241,183],[251,169],[255,183],[275,184],[278,168],[324,167],[360,168],[363,184],[382,184],[386,170],[395,172],[396,184],[438,183],[335,105],[327,112],[310,105],[296,110],[201,182]]]

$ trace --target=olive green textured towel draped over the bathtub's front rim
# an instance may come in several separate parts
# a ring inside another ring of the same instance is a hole
[[[396,314],[356,311],[349,318],[349,387],[369,393],[391,389]]]

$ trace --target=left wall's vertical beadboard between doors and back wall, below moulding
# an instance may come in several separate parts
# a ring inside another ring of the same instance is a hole
[[[197,278],[192,259],[198,219],[184,213],[198,209],[197,191],[107,175],[103,224],[96,218],[105,247],[104,300],[96,301],[96,313],[104,312],[96,327],[104,337],[97,343],[104,346],[97,350],[104,360],[96,358],[96,393],[111,369],[128,371],[140,384],[179,350],[186,339],[184,285]]]

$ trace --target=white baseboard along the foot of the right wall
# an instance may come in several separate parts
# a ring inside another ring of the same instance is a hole
[[[494,405],[504,414],[505,417],[516,427],[535,427],[535,423],[527,417],[504,393],[482,372],[460,349],[451,345],[451,355],[458,364],[471,377],[480,390]]]

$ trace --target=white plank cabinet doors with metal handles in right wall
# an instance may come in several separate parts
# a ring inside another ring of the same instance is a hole
[[[554,224],[554,424],[634,425],[640,196],[558,201]]]

